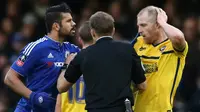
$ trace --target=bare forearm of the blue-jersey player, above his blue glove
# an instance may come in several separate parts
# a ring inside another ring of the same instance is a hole
[[[19,77],[20,75],[10,68],[5,76],[4,83],[19,95],[29,99],[32,91],[23,84]]]

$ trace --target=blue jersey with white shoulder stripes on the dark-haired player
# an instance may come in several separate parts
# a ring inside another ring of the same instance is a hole
[[[44,36],[25,46],[11,68],[25,77],[26,86],[30,90],[47,92],[56,98],[58,94],[56,82],[65,58],[79,50],[69,42],[61,44]],[[22,98],[19,104],[26,106],[26,99]]]

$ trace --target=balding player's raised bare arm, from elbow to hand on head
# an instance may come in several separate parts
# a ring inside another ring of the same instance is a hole
[[[184,34],[178,28],[167,23],[167,15],[162,9],[157,9],[157,12],[157,22],[171,40],[173,47],[178,51],[183,51],[186,46]]]

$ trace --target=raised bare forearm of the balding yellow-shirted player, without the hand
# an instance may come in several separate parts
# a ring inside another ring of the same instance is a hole
[[[185,38],[182,31],[168,23],[161,23],[160,25],[176,49],[185,48]]]

